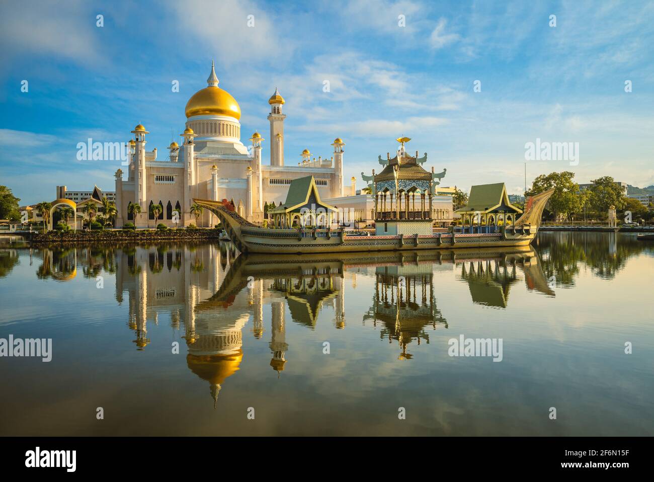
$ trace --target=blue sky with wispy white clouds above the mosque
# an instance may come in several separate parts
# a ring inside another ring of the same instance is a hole
[[[88,138],[125,142],[140,122],[162,156],[212,60],[245,145],[269,137],[277,87],[285,164],[304,148],[330,157],[341,137],[358,187],[404,136],[447,169],[441,186],[466,191],[522,194],[525,169],[527,185],[564,170],[654,184],[648,1],[23,0],[0,5],[0,46],[0,184],[21,204],[61,184],[113,191],[120,161],[78,160]],[[537,139],[578,157],[526,160]]]

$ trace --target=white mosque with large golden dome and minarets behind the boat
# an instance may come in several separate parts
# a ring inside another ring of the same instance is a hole
[[[175,226],[196,224],[192,214],[193,199],[227,199],[237,212],[251,222],[262,222],[264,204],[279,205],[286,199],[293,179],[313,175],[322,199],[343,198],[343,146],[334,140],[332,158],[311,158],[305,149],[301,162],[284,165],[284,98],[277,89],[270,97],[270,163],[262,163],[264,138],[255,132],[250,146],[241,142],[241,109],[226,90],[218,87],[213,63],[207,87],[196,92],[186,103],[186,129],[182,145],[173,142],[169,154],[158,159],[157,149],[146,150],[146,131],[141,124],[129,141],[128,172],[116,171],[116,226],[133,222],[137,228],[154,227],[162,222]],[[124,179],[127,175],[127,179]],[[347,193],[350,194],[350,193]],[[138,204],[141,213],[131,214],[130,204]],[[154,219],[150,206],[159,204],[162,212]],[[366,204],[364,203],[364,206]],[[366,209],[364,207],[364,209]],[[198,226],[217,222],[205,210]]]

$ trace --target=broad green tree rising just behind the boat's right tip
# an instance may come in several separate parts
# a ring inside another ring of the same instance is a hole
[[[579,192],[579,184],[573,179],[574,173],[570,171],[542,174],[534,179],[532,188],[525,192],[525,196],[534,196],[554,189],[554,194],[547,201],[548,211],[554,213],[557,221],[570,219],[572,215],[583,209],[583,196]]]

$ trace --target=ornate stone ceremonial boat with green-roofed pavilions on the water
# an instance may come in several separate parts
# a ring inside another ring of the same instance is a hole
[[[194,199],[216,215],[241,252],[268,254],[319,254],[424,249],[519,247],[529,245],[538,233],[548,190],[526,200],[525,212],[511,205],[504,183],[472,186],[470,200],[458,209],[462,226],[434,232],[432,198],[442,173],[422,168],[422,158],[410,156],[402,144],[394,158],[379,157],[381,173],[363,176],[375,199],[375,234],[348,235],[334,227],[336,207],[323,203],[313,176],[294,179],[286,202],[268,211],[271,226],[257,226],[240,216],[226,199]],[[362,173],[363,175],[363,173]],[[519,216],[521,215],[521,216]],[[518,217],[519,216],[519,217]]]

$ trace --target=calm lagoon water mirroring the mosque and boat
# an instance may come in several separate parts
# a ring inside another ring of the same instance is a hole
[[[0,435],[653,435],[653,272],[653,245],[614,233],[0,250],[0,338],[53,345],[0,358]],[[460,335],[502,338],[502,361],[449,356]]]

